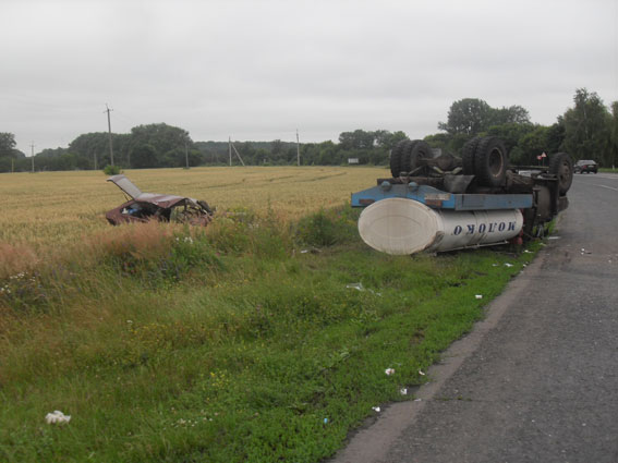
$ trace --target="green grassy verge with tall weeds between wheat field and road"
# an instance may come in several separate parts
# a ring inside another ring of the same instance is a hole
[[[348,209],[74,253],[0,282],[0,461],[319,461],[410,399],[533,255],[391,257]]]

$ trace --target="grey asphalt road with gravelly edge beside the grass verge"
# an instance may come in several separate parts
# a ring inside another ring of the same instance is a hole
[[[334,462],[618,463],[618,175],[578,174],[568,195],[554,239],[417,400]]]

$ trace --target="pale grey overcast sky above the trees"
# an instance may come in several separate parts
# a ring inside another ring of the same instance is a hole
[[[0,0],[0,132],[29,155],[166,122],[193,141],[436,133],[450,105],[552,124],[618,100],[618,0]]]

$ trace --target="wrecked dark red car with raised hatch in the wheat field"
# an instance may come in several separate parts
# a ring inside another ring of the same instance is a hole
[[[111,209],[105,215],[112,226],[130,222],[180,222],[193,226],[207,226],[213,219],[213,209],[204,200],[185,196],[143,193],[124,175],[107,179],[122,190],[131,200]]]

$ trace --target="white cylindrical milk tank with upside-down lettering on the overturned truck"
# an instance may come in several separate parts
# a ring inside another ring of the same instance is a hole
[[[392,255],[499,243],[517,236],[522,227],[519,209],[432,209],[405,198],[378,200],[366,207],[359,219],[363,241]]]

